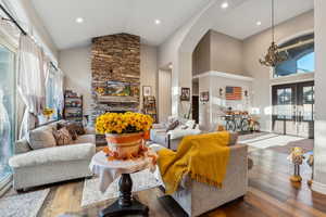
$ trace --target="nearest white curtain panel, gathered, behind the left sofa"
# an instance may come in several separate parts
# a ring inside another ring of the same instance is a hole
[[[46,74],[42,50],[28,36],[20,38],[17,89],[26,105],[20,138],[34,129],[46,106]]]

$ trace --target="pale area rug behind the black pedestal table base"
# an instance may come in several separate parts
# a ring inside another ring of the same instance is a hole
[[[131,174],[133,192],[143,191],[161,186],[154,174],[148,169]],[[82,207],[89,206],[118,196],[118,178],[115,179],[104,193],[99,191],[99,178],[86,179],[84,183]]]

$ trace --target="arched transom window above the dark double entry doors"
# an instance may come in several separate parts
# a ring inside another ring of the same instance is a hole
[[[315,53],[314,42],[300,46],[298,42],[309,41],[314,39],[314,35],[301,36],[294,38],[287,43],[280,46],[281,48],[294,46],[288,49],[287,52],[289,59],[275,67],[274,77],[283,77],[293,74],[313,73],[315,71]],[[297,46],[296,46],[297,44]]]

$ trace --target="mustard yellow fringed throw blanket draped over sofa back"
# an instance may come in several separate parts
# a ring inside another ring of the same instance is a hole
[[[174,193],[183,177],[222,188],[229,158],[230,135],[227,131],[188,136],[178,145],[177,152],[159,151],[159,168],[166,193]]]

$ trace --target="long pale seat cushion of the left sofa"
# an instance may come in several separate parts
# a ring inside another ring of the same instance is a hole
[[[9,159],[9,165],[13,168],[17,168],[55,164],[58,162],[90,159],[95,153],[96,146],[91,143],[53,146],[14,155]]]

